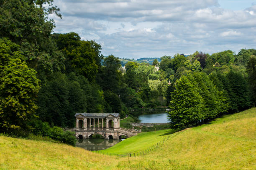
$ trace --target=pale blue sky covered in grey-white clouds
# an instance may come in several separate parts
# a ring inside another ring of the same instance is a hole
[[[120,58],[256,48],[256,0],[54,0],[56,33]]]

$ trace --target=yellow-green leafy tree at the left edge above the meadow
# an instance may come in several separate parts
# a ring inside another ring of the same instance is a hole
[[[28,130],[28,121],[37,109],[39,80],[36,71],[22,61],[24,56],[8,46],[16,45],[7,39],[5,42],[0,44],[0,131]]]

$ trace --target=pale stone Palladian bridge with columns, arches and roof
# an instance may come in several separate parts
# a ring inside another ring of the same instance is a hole
[[[76,138],[87,139],[93,134],[100,134],[104,139],[127,138],[141,133],[141,130],[120,127],[119,113],[76,113]]]

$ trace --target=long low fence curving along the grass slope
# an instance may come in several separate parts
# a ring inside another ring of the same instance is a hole
[[[94,153],[99,153],[99,154],[103,154],[103,155],[110,155],[110,156],[118,156],[118,157],[125,157],[125,156],[128,156],[128,157],[138,157],[138,156],[143,156],[143,155],[146,155],[148,153],[150,153],[151,151],[155,150],[156,148],[159,148],[163,143],[165,143],[167,140],[170,140],[172,138],[174,138],[175,136],[183,133],[184,131],[186,130],[189,130],[191,128],[186,128],[184,130],[180,130],[179,132],[175,132],[175,133],[172,133],[170,135],[167,135],[164,139],[162,139],[161,141],[159,141],[158,143],[156,143],[155,145],[145,149],[145,150],[141,150],[141,151],[138,151],[138,152],[135,152],[135,153],[108,153],[108,152],[103,152],[102,150],[94,150],[92,152]]]

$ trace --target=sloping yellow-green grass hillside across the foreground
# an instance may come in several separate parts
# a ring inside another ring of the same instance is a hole
[[[108,153],[154,145],[173,130],[141,133]],[[0,136],[0,169],[255,170],[256,108],[225,115],[167,140],[143,157],[116,157],[44,141]]]

